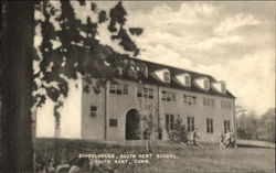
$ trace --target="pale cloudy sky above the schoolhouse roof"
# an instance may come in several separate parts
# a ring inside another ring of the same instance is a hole
[[[97,2],[110,9],[116,2]],[[275,2],[126,1],[127,26],[142,58],[225,80],[236,105],[257,115],[275,107]],[[113,43],[102,30],[103,44]]]

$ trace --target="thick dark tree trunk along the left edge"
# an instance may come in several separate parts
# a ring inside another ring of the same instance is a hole
[[[33,172],[31,99],[34,2],[6,1],[7,32],[1,41],[2,172]],[[2,29],[1,29],[2,30]]]

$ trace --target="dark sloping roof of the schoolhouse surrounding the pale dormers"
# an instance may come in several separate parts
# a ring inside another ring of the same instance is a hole
[[[148,67],[148,77],[140,77],[140,80],[142,83],[145,83],[145,84],[158,85],[158,86],[176,88],[176,89],[183,89],[183,90],[195,91],[195,93],[213,95],[213,96],[222,96],[222,97],[227,97],[227,98],[235,98],[235,96],[232,95],[229,90],[225,94],[219,93],[215,89],[213,89],[212,87],[210,87],[210,90],[204,90],[204,89],[199,88],[197,86],[197,84],[194,84],[194,79],[200,78],[200,77],[208,77],[210,79],[210,83],[212,84],[212,83],[216,82],[213,76],[202,74],[202,73],[192,72],[192,71],[181,69],[181,68],[172,67],[172,66],[169,66],[169,65],[147,62],[147,61],[144,61],[144,60],[137,60],[137,58],[131,58],[131,60],[135,61],[136,63],[145,64]],[[162,69],[162,68],[167,68],[167,69],[170,71],[170,75],[171,75],[171,83],[170,84],[163,83],[160,79],[157,79],[157,76],[155,76],[155,72],[158,71],[158,69]],[[190,76],[191,76],[191,87],[180,85],[177,82],[178,79],[176,78],[176,75],[183,74],[183,73],[190,74]],[[126,78],[126,76],[123,77],[123,78]],[[126,79],[131,80],[131,78],[126,78]]]

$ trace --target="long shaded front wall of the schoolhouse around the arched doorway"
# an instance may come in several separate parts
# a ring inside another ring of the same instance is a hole
[[[166,115],[179,115],[187,126],[188,116],[194,117],[194,126],[199,129],[198,134],[203,141],[217,141],[220,131],[224,132],[224,120],[231,121],[234,129],[234,100],[225,97],[199,94],[180,89],[159,87],[153,85],[138,85],[137,83],[116,79],[120,84],[128,85],[128,95],[109,93],[109,84],[95,95],[91,86],[89,94],[83,94],[82,106],[82,138],[107,139],[123,141],[126,139],[126,115],[130,109],[136,109],[141,115],[153,116],[155,125],[162,128],[162,139],[168,139],[166,130]],[[153,89],[153,99],[137,98],[137,88],[142,86]],[[176,101],[163,101],[161,91],[176,93]],[[197,97],[197,105],[183,104],[183,95]],[[215,107],[204,106],[203,97],[213,98]],[[232,109],[222,109],[221,100],[232,102]],[[97,106],[97,117],[89,117],[89,107]],[[206,118],[213,119],[213,133],[206,133]],[[109,119],[117,119],[117,127],[109,127]],[[155,134],[153,138],[157,138]]]

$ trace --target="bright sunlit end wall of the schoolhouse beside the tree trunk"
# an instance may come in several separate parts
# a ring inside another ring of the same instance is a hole
[[[76,88],[76,85],[78,86]],[[82,80],[71,80],[68,83],[68,96],[63,101],[63,107],[59,109],[61,113],[60,133],[55,133],[54,102],[50,98],[36,109],[35,113],[35,137],[36,138],[68,138],[82,139],[81,137],[81,110],[82,110]]]

